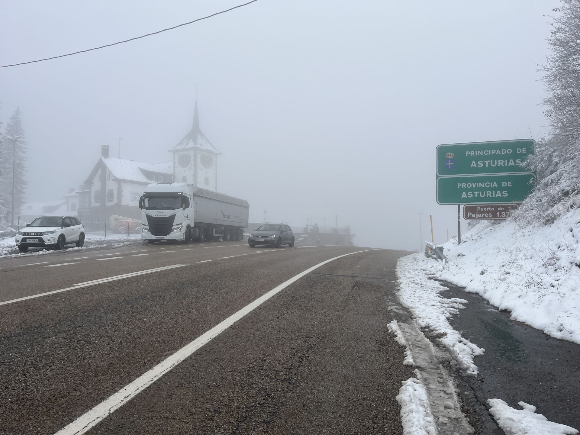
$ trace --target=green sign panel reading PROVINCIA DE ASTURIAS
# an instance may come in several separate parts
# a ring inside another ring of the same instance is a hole
[[[489,174],[437,178],[438,204],[521,202],[534,189],[534,174]]]

